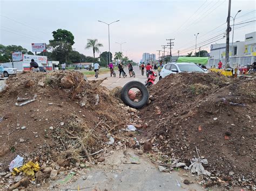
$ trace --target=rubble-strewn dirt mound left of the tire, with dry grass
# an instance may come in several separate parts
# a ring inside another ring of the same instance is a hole
[[[9,77],[0,93],[0,188],[16,182],[8,165],[17,154],[24,162],[38,161],[45,178],[89,167],[97,154],[117,145],[129,108],[100,86],[102,81],[86,82],[75,71]]]

